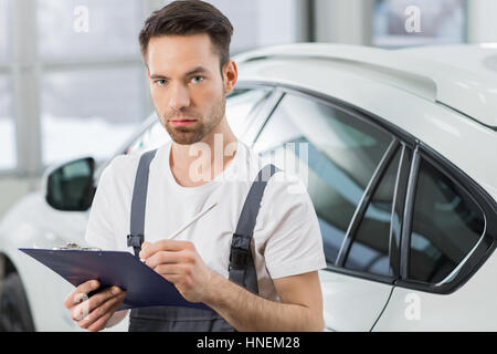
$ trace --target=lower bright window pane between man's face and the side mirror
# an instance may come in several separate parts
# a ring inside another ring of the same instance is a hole
[[[141,70],[105,69],[45,73],[41,82],[45,164],[86,154],[105,159],[144,119],[137,97]]]

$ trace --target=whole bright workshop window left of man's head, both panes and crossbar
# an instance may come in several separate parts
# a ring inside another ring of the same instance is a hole
[[[110,157],[150,114],[140,0],[38,0],[42,163]]]

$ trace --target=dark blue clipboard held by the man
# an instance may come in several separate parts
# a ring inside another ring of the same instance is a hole
[[[32,248],[19,250],[49,267],[74,287],[88,280],[98,280],[99,289],[117,285],[126,290],[126,298],[117,310],[184,306],[212,311],[204,303],[186,300],[175,284],[129,252]]]

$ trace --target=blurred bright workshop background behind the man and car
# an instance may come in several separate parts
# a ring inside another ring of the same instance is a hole
[[[137,37],[163,0],[0,0],[0,218],[47,166],[109,157],[154,111]],[[293,42],[497,42],[495,0],[212,0],[232,54]],[[405,10],[421,10],[408,33]]]

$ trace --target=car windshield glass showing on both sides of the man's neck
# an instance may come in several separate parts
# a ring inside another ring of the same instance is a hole
[[[236,137],[243,140],[248,115],[269,92],[266,88],[235,88],[226,96],[226,119]],[[170,139],[169,133],[157,118],[157,122],[150,128],[129,145],[126,154],[151,150]]]

